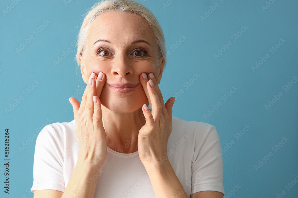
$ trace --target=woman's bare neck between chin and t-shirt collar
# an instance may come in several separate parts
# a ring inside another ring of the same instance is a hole
[[[134,112],[118,113],[101,105],[107,145],[119,153],[138,151],[138,134],[145,125],[142,107]]]

